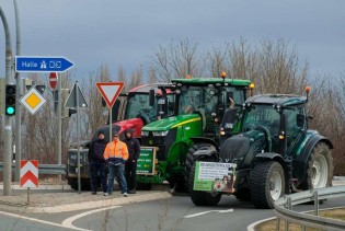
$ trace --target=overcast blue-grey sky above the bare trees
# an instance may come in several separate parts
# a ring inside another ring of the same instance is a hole
[[[345,0],[18,0],[22,55],[65,56],[78,76],[119,65],[146,67],[148,56],[171,39],[192,38],[200,47],[226,42],[257,45],[285,38],[296,45],[311,74],[345,72]],[[11,27],[12,0],[0,0]],[[2,25],[2,24],[0,24]],[[1,26],[2,27],[2,26]],[[4,77],[4,32],[0,30],[0,76]]]

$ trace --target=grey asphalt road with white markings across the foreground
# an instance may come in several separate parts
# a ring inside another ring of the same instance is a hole
[[[116,199],[116,198],[115,198]],[[320,206],[345,206],[345,197]],[[196,207],[187,195],[124,206],[69,212],[15,212],[0,209],[0,230],[246,230],[262,219],[275,217],[272,209],[255,209],[251,203],[223,196],[217,207]],[[294,210],[313,210],[312,205]]]

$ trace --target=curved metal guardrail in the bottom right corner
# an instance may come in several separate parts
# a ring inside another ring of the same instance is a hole
[[[289,230],[289,222],[322,230],[345,230],[345,222],[325,217],[319,217],[319,201],[345,196],[345,186],[335,186],[304,190],[291,195],[286,195],[275,201],[275,213],[277,215],[276,230],[280,228],[280,219],[285,220],[285,230]],[[298,212],[292,210],[294,205],[314,201],[314,215]]]

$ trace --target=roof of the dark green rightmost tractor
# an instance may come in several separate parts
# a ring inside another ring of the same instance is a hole
[[[260,94],[249,97],[245,103],[251,104],[278,104],[281,106],[289,106],[295,104],[303,104],[307,102],[306,96],[292,94]]]

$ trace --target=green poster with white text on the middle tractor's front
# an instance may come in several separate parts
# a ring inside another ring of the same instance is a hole
[[[141,147],[137,161],[137,174],[154,175],[156,147]]]

